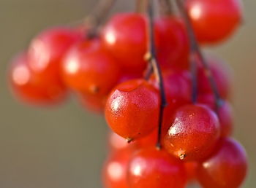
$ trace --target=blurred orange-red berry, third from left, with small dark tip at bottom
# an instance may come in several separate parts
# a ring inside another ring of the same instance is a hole
[[[120,70],[98,39],[75,44],[62,64],[66,85],[86,95],[108,95],[118,80]]]

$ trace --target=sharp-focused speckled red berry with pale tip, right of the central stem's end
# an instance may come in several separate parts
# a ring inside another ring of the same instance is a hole
[[[181,160],[200,160],[211,154],[219,133],[219,120],[214,111],[204,105],[189,104],[173,115],[162,143],[167,152]]]

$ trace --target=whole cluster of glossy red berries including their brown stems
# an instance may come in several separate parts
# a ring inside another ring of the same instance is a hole
[[[176,14],[159,0],[154,17],[153,1],[139,0],[138,12],[118,13],[105,26],[112,6],[102,2],[90,24],[43,31],[13,60],[15,95],[53,106],[73,93],[105,114],[112,130],[105,187],[240,187],[247,163],[230,138],[228,68],[200,47],[236,30],[241,1],[176,0]]]

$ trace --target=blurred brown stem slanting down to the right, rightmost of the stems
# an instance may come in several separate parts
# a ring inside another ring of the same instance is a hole
[[[200,47],[197,44],[197,39],[195,37],[195,32],[192,28],[192,23],[191,23],[191,20],[189,18],[189,15],[187,13],[186,7],[184,5],[184,1],[183,0],[176,0],[176,4],[178,6],[178,9],[181,12],[182,17],[184,18],[184,22],[185,22],[186,27],[187,27],[187,32],[188,32],[189,40],[190,40],[190,57],[191,57],[190,60],[195,61],[195,58],[198,58],[199,61],[203,64],[203,68],[204,68],[206,77],[208,77],[208,81],[210,82],[210,85],[211,85],[211,90],[214,93],[215,105],[216,105],[216,108],[218,109],[219,106],[222,103],[222,98],[219,95],[219,90],[217,88],[217,84],[214,80],[214,77],[211,74],[211,68],[209,67],[208,63],[206,62],[206,59],[203,57],[203,53],[201,52]],[[196,66],[196,64],[195,64],[195,66]],[[195,80],[193,80],[193,82],[195,82]],[[193,84],[193,85],[195,85],[195,84]],[[193,93],[194,93],[193,95],[195,95],[196,92],[193,92]]]

